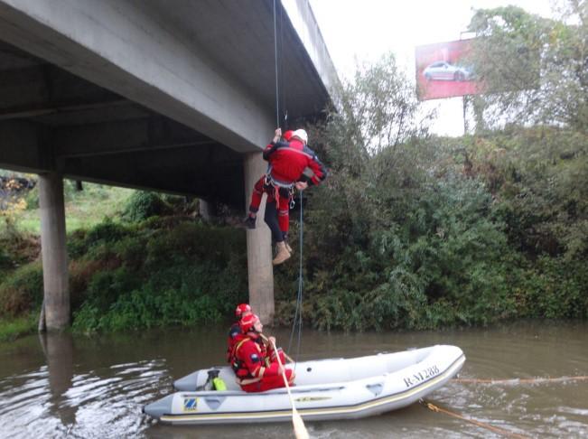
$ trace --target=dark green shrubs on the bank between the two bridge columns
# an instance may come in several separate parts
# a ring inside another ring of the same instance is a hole
[[[247,263],[241,230],[192,220],[151,219],[120,228],[101,224],[76,248],[80,257],[72,294],[83,296],[74,312],[80,332],[216,322],[247,300]],[[117,239],[106,237],[117,236]],[[96,238],[100,237],[100,238]],[[98,265],[98,269],[96,266]],[[100,269],[99,266],[102,268]],[[108,269],[105,269],[108,266]],[[74,286],[79,285],[74,293]]]

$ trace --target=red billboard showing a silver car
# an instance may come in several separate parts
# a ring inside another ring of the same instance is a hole
[[[416,46],[416,90],[419,99],[453,98],[483,91],[467,61],[472,41]]]

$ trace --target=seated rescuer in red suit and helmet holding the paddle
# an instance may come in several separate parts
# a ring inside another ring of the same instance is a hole
[[[246,392],[264,392],[272,388],[284,388],[284,378],[292,386],[294,370],[280,366],[276,355],[285,364],[282,349],[275,350],[275,338],[269,337],[266,346],[261,337],[263,324],[256,314],[251,313],[239,322],[243,335],[233,348],[232,367],[237,376],[238,385]]]

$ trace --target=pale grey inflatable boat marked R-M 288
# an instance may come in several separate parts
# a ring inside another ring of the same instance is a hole
[[[442,387],[462,369],[465,356],[455,346],[380,353],[354,359],[290,363],[296,378],[292,396],[304,421],[357,419],[415,403]],[[207,388],[218,374],[225,390]],[[229,367],[201,369],[174,382],[177,389],[144,407],[166,424],[237,424],[292,420],[285,388],[242,391]]]

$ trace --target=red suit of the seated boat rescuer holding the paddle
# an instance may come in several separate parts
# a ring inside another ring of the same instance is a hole
[[[279,363],[275,358],[275,350],[269,350],[252,332],[241,336],[233,351],[233,370],[238,384],[246,392],[264,392],[272,388],[284,388],[284,378],[278,373]],[[285,356],[279,351],[280,360],[285,364]],[[285,369],[288,384],[292,385],[294,371]]]

